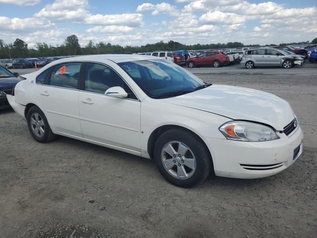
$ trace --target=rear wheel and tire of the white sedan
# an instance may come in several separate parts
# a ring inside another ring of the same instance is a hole
[[[26,119],[29,131],[36,141],[48,143],[56,138],[44,113],[38,107],[31,107],[27,113]]]

